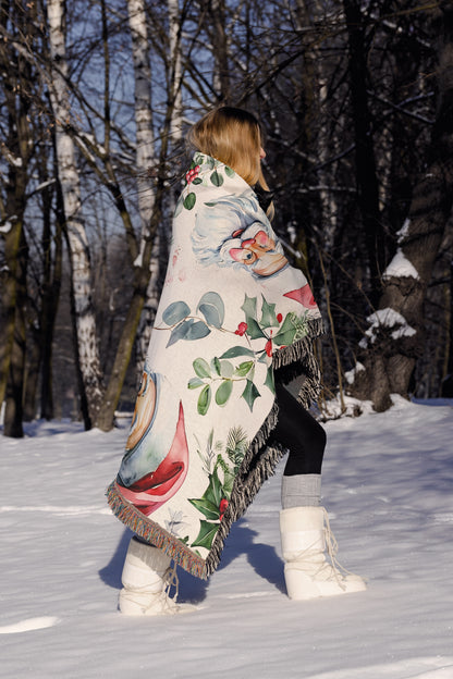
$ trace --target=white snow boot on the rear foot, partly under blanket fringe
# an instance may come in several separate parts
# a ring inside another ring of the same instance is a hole
[[[119,608],[130,616],[152,616],[179,613],[177,578],[170,568],[171,558],[161,550],[133,538],[124,561]],[[176,594],[170,588],[176,580]]]

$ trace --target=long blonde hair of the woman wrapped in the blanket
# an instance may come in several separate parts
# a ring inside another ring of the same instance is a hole
[[[222,106],[195,123],[187,140],[201,153],[237,172],[250,186],[259,184],[269,190],[259,158],[261,137],[259,122],[253,113]]]

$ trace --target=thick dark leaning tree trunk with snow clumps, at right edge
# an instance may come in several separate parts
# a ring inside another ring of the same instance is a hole
[[[407,220],[399,232],[396,255],[383,274],[383,293],[360,342],[351,387],[371,399],[376,410],[391,405],[390,394],[407,395],[424,346],[424,303],[453,205],[453,8],[431,11],[439,35],[439,106],[424,173],[414,187]]]

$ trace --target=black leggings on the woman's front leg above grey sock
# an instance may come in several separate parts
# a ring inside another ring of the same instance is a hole
[[[282,384],[276,383],[276,397],[279,405],[279,421],[270,435],[287,448],[284,474],[321,473],[326,448],[326,432]]]

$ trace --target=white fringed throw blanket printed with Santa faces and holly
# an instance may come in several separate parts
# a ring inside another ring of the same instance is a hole
[[[304,374],[316,397],[313,338],[322,322],[257,196],[195,153],[126,450],[108,489],[113,513],[176,564],[207,578],[231,524],[282,455],[274,374]]]

